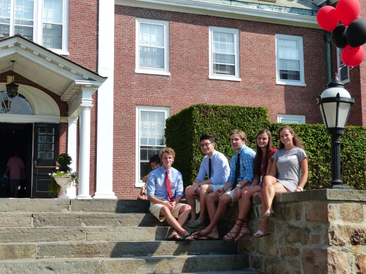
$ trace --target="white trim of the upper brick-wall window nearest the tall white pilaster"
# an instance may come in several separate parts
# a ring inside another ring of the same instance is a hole
[[[164,69],[140,68],[140,23],[164,26]],[[169,72],[169,22],[136,18],[136,68],[135,73],[156,74],[170,76]]]

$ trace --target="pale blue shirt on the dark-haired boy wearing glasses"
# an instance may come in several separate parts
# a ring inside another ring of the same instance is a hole
[[[212,184],[225,184],[230,174],[230,166],[224,154],[216,150],[211,157],[205,156],[201,162],[197,178],[204,182],[205,176],[209,176],[209,158],[211,158],[211,182]]]

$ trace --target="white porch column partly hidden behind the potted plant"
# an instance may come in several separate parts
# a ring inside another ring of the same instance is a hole
[[[67,117],[68,120],[68,130],[67,130],[67,154],[70,155],[72,159],[72,163],[70,168],[72,172],[76,171],[76,133],[77,133],[77,121],[78,117]],[[74,185],[70,185],[67,187],[66,194],[70,197],[70,199],[76,198],[76,187]]]

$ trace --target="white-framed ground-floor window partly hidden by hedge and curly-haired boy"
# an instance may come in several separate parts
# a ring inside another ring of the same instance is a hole
[[[136,186],[143,186],[142,178],[149,174],[149,159],[165,147],[165,119],[169,107],[136,106]]]

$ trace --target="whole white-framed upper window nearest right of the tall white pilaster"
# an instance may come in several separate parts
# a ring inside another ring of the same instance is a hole
[[[169,73],[169,22],[136,18],[135,73]]]

